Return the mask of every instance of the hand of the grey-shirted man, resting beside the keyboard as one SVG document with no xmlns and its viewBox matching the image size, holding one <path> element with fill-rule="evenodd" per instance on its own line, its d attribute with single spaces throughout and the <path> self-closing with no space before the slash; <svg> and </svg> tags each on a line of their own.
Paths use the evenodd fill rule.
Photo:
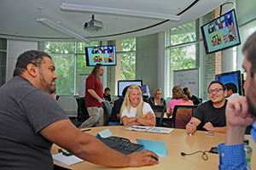
<svg viewBox="0 0 256 170">
<path fill-rule="evenodd" d="M 159 156 L 149 150 L 134 152 L 128 156 L 130 158 L 129 167 L 142 167 L 145 165 L 154 165 L 159 163 L 159 161 L 156 161 L 153 157 L 151 157 L 154 156 L 159 158 Z"/>
</svg>

